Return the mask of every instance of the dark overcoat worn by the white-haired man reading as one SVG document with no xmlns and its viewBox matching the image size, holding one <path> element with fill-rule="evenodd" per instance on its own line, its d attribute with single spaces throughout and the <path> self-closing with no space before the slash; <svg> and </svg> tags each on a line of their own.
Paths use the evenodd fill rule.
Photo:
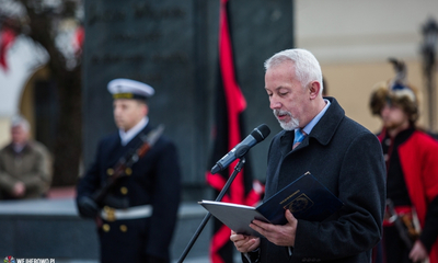
<svg viewBox="0 0 438 263">
<path fill-rule="evenodd" d="M 344 207 L 322 222 L 298 220 L 292 255 L 266 239 L 261 262 L 371 261 L 380 240 L 385 204 L 385 168 L 376 135 L 345 116 L 333 98 L 304 140 L 291 150 L 292 132 L 277 134 L 269 147 L 266 196 L 310 171 Z"/>
</svg>

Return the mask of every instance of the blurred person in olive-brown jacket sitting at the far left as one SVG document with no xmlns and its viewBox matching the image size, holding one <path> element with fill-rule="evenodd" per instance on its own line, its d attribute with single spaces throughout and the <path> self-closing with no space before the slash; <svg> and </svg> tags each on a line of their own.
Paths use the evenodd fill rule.
<svg viewBox="0 0 438 263">
<path fill-rule="evenodd" d="M 0 150 L 1 199 L 44 197 L 51 183 L 51 157 L 31 140 L 31 127 L 22 116 L 11 119 L 11 144 Z"/>
</svg>

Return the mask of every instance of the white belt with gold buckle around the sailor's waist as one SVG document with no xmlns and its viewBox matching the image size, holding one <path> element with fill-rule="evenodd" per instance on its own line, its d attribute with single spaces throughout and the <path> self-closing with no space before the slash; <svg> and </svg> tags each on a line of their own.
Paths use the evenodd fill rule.
<svg viewBox="0 0 438 263">
<path fill-rule="evenodd" d="M 146 218 L 152 215 L 151 205 L 132 206 L 126 209 L 115 209 L 105 206 L 101 211 L 101 217 L 107 221 Z"/>
</svg>

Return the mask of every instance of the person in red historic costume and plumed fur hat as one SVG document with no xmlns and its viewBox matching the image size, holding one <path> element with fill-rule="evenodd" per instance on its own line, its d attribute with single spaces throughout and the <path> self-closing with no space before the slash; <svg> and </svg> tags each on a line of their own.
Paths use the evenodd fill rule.
<svg viewBox="0 0 438 263">
<path fill-rule="evenodd" d="M 383 240 L 374 262 L 438 263 L 438 142 L 420 130 L 416 89 L 407 83 L 406 66 L 391 58 L 396 76 L 379 82 L 370 96 L 387 163 L 388 206 Z M 377 253 L 379 255 L 379 253 Z"/>
</svg>

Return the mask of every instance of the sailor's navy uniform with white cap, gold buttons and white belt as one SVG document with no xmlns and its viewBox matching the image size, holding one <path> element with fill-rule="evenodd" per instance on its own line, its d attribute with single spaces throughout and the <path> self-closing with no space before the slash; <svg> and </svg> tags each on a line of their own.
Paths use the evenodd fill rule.
<svg viewBox="0 0 438 263">
<path fill-rule="evenodd" d="M 145 100 L 154 92 L 145 83 L 126 79 L 113 80 L 108 90 L 115 100 Z M 171 140 L 160 136 L 143 157 L 125 168 L 124 176 L 104 196 L 103 207 L 96 209 L 96 194 L 115 175 L 117 162 L 137 150 L 151 130 L 155 129 L 145 116 L 126 133 L 103 138 L 94 163 L 78 184 L 80 214 L 97 219 L 102 262 L 170 262 L 181 181 Z"/>
</svg>

